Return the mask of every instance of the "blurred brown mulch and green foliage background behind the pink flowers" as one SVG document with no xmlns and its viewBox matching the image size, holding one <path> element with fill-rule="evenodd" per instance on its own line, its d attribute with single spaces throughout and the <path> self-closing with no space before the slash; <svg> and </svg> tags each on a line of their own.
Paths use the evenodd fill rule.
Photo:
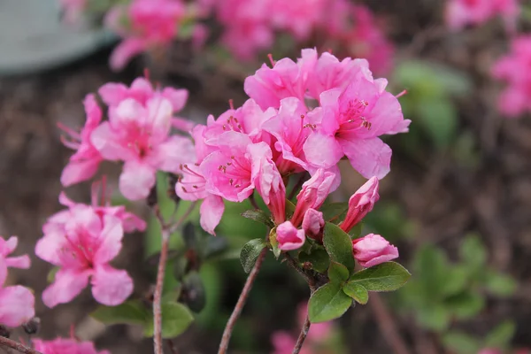
<svg viewBox="0 0 531 354">
<path fill-rule="evenodd" d="M 97 11 L 73 24 L 52 0 L 0 0 L 0 235 L 19 235 L 19 252 L 32 255 L 43 222 L 61 209 L 59 176 L 70 151 L 61 143 L 57 123 L 81 127 L 85 95 L 109 81 L 130 84 L 148 68 L 151 80 L 189 89 L 181 116 L 204 122 L 208 114 L 227 110 L 229 99 L 235 105 L 244 102 L 242 81 L 269 61 L 267 53 L 296 58 L 300 48 L 327 46 L 313 37 L 293 42 L 278 35 L 273 47 L 242 61 L 215 44 L 220 29 L 209 19 L 214 44 L 197 50 L 189 38 L 176 40 L 113 72 L 109 58 L 119 37 L 101 26 L 112 2 L 96 3 L 101 6 Z M 509 49 L 503 21 L 452 32 L 444 22 L 443 0 L 357 4 L 373 13 L 374 26 L 392 48 L 375 76 L 388 78 L 395 94 L 407 90 L 400 102 L 404 116 L 412 119 L 409 134 L 386 141 L 394 151 L 391 173 L 381 181 L 380 202 L 364 227 L 395 244 L 399 262 L 413 275 L 403 289 L 350 309 L 312 337 L 307 352 L 527 352 L 531 120 L 528 115 L 505 119 L 497 111 L 501 84 L 492 79 L 490 68 Z M 525 19 L 520 26 L 526 27 Z M 337 46 L 335 53 L 342 49 L 341 43 Z M 364 181 L 348 163 L 342 167 L 336 200 L 347 200 Z M 119 170 L 105 165 L 102 173 L 116 177 Z M 89 184 L 68 194 L 88 202 Z M 114 202 L 123 201 L 116 196 Z M 129 207 L 150 218 L 146 205 Z M 239 249 L 264 234 L 258 224 L 240 217 L 249 208 L 227 205 L 217 237 L 219 247 L 228 251 L 198 270 L 203 284 L 194 289 L 206 304 L 194 325 L 174 341 L 180 353 L 217 350 L 246 277 Z M 127 235 L 124 242 L 118 265 L 134 277 L 135 294 L 146 296 L 155 274 L 150 256 L 158 252 L 157 227 L 151 225 L 146 235 Z M 177 240 L 174 247 L 180 245 Z M 31 257 L 31 271 L 12 271 L 9 282 L 38 295 L 47 285 L 50 265 Z M 281 353 L 282 340 L 300 329 L 297 313 L 308 296 L 304 280 L 269 255 L 237 324 L 231 352 L 273 353 L 276 348 Z M 87 290 L 52 310 L 37 298 L 42 337 L 67 336 L 74 325 L 79 337 L 115 354 L 152 350 L 142 327 L 105 327 L 92 319 L 89 313 L 97 306 Z"/>
</svg>

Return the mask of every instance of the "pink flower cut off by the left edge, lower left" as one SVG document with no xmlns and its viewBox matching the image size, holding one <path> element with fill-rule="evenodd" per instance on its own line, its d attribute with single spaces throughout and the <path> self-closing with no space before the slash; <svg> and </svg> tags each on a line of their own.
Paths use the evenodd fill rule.
<svg viewBox="0 0 531 354">
<path fill-rule="evenodd" d="M 17 248 L 19 240 L 12 236 L 7 241 L 0 236 L 0 325 L 18 327 L 35 316 L 35 297 L 20 285 L 6 286 L 8 267 L 28 269 L 27 255 L 8 257 Z"/>
</svg>

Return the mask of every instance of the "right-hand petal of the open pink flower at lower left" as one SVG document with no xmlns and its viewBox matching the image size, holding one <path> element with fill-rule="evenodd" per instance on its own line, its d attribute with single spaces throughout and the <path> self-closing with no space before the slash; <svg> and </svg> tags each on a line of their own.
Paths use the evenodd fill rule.
<svg viewBox="0 0 531 354">
<path fill-rule="evenodd" d="M 121 220 L 111 215 L 104 215 L 104 229 L 100 235 L 101 241 L 94 254 L 93 262 L 96 265 L 108 263 L 118 256 L 123 236 Z"/>
</svg>

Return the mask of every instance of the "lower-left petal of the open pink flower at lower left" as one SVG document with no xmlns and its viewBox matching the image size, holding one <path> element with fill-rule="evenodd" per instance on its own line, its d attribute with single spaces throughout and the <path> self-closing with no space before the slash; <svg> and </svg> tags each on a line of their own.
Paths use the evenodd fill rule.
<svg viewBox="0 0 531 354">
<path fill-rule="evenodd" d="M 48 307 L 66 304 L 80 295 L 89 285 L 90 270 L 62 268 L 56 273 L 55 281 L 42 292 L 42 302 Z"/>
</svg>

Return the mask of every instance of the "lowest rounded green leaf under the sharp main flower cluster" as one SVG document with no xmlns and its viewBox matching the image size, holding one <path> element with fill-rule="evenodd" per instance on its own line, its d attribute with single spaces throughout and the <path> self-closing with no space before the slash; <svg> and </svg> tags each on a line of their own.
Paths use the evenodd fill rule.
<svg viewBox="0 0 531 354">
<path fill-rule="evenodd" d="M 345 313 L 352 299 L 343 293 L 339 284 L 327 283 L 317 289 L 308 303 L 308 316 L 312 323 L 337 319 Z"/>
</svg>

